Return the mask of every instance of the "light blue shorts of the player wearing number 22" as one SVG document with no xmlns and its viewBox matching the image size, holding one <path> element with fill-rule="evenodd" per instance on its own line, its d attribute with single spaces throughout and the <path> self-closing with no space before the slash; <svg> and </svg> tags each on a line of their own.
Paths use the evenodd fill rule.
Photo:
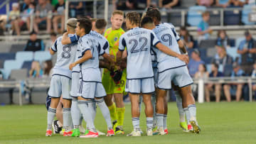
<svg viewBox="0 0 256 144">
<path fill-rule="evenodd" d="M 125 92 L 132 94 L 151 94 L 154 91 L 155 89 L 153 77 L 146 79 L 127 79 Z"/>
</svg>

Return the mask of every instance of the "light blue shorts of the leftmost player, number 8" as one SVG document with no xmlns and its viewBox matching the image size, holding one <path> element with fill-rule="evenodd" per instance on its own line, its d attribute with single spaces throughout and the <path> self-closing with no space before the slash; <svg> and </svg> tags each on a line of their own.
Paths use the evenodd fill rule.
<svg viewBox="0 0 256 144">
<path fill-rule="evenodd" d="M 54 75 L 50 79 L 50 89 L 48 95 L 53 98 L 60 98 L 61 94 L 63 99 L 72 99 L 70 96 L 70 77 L 65 77 L 61 75 Z"/>
</svg>

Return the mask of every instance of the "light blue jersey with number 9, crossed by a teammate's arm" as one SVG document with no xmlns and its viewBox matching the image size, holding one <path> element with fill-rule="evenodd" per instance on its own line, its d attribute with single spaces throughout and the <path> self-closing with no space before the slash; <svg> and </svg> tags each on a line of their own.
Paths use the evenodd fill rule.
<svg viewBox="0 0 256 144">
<path fill-rule="evenodd" d="M 177 43 L 178 40 L 180 40 L 180 37 L 176 33 L 175 28 L 172 24 L 161 23 L 157 25 L 156 28 L 153 29 L 153 31 L 162 44 L 166 45 L 166 47 L 170 48 L 174 52 L 181 54 Z M 157 48 L 154 48 L 153 50 L 156 52 L 158 62 L 157 67 L 159 72 L 186 65 L 185 62 L 179 60 L 177 57 L 166 55 L 164 52 L 161 52 Z"/>
</svg>

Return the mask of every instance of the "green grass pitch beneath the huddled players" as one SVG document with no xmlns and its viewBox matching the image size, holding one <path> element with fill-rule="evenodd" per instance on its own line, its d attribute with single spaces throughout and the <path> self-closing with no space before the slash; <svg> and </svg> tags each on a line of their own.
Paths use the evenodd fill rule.
<svg viewBox="0 0 256 144">
<path fill-rule="evenodd" d="M 132 131 L 131 106 L 126 105 L 125 134 Z M 168 135 L 146 136 L 144 112 L 141 116 L 142 137 L 125 135 L 99 138 L 46 137 L 46 108 L 43 105 L 0 106 L 0 143 L 256 143 L 255 102 L 197 104 L 199 135 L 183 133 L 178 127 L 176 103 L 169 103 Z M 85 124 L 85 123 L 84 123 Z M 84 125 L 85 126 L 85 125 Z M 106 123 L 97 109 L 95 126 L 106 133 Z"/>
</svg>

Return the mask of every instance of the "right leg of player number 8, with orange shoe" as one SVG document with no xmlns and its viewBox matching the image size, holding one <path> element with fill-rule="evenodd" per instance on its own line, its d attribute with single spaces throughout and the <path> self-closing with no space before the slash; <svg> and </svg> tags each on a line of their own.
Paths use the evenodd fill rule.
<svg viewBox="0 0 256 144">
<path fill-rule="evenodd" d="M 68 77 L 61 77 L 62 94 L 63 94 L 63 128 L 65 132 L 63 136 L 71 136 L 71 126 L 73 125 L 71 118 L 71 101 L 70 96 L 71 79 Z"/>
</svg>

